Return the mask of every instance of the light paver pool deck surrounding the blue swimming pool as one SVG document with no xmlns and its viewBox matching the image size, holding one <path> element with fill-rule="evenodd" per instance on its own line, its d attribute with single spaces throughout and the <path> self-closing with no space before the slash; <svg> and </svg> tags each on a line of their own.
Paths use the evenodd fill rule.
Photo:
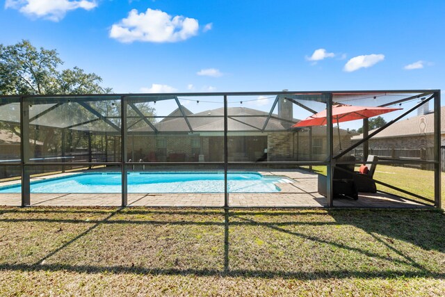
<svg viewBox="0 0 445 297">
<path fill-rule="evenodd" d="M 277 193 L 229 193 L 230 207 L 326 207 L 326 198 L 318 194 L 318 175 L 306 170 L 261 171 L 262 175 L 288 177 L 291 183 L 277 184 Z M 73 173 L 61 173 L 35 179 L 60 177 Z M 14 184 L 17 182 L 8 182 Z M 3 185 L 6 185 L 3 183 Z M 0 205 L 20 206 L 19 193 L 1 193 Z M 31 206 L 51 207 L 120 207 L 119 193 L 39 193 L 31 194 Z M 128 194 L 129 207 L 223 207 L 222 193 L 152 193 Z M 375 208 L 423 208 L 423 204 L 398 198 L 385 193 L 359 193 L 358 200 L 334 199 L 334 207 Z"/>
</svg>

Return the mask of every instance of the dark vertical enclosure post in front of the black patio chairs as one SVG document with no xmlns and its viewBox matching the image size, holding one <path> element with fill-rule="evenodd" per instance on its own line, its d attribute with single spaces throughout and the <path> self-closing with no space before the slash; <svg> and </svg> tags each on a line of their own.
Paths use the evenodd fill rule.
<svg viewBox="0 0 445 297">
<path fill-rule="evenodd" d="M 332 93 L 329 94 L 329 98 L 327 99 L 326 102 L 326 116 L 327 116 L 327 158 L 329 160 L 329 163 L 327 163 L 327 168 L 326 168 L 326 179 L 327 179 L 327 183 L 326 183 L 326 202 L 327 202 L 327 207 L 333 207 L 334 206 L 334 202 L 333 202 L 333 188 L 332 188 L 332 177 L 333 177 L 333 172 L 334 172 L 334 166 L 335 166 L 335 160 L 333 158 L 334 156 L 334 143 L 333 143 L 333 137 L 334 137 L 334 133 L 333 133 L 333 129 L 332 129 Z M 312 160 L 311 160 L 312 161 Z"/>
</svg>

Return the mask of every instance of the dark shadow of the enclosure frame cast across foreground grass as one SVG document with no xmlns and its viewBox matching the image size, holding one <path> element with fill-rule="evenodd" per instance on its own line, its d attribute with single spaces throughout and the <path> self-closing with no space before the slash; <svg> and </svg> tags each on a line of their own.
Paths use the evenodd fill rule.
<svg viewBox="0 0 445 297">
<path fill-rule="evenodd" d="M 51 213 L 59 214 L 63 213 L 63 209 L 39 209 L 40 214 Z M 0 214 L 13 212 L 26 213 L 22 210 L 0 211 Z M 29 211 L 35 212 L 35 209 Z M 445 216 L 441 211 L 384 211 L 384 210 L 366 210 L 366 211 L 353 211 L 353 210 L 329 210 L 329 211 L 262 211 L 262 210 L 229 210 L 225 209 L 218 211 L 179 211 L 172 209 L 168 211 L 165 209 L 81 209 L 76 211 L 74 209 L 67 209 L 67 213 L 74 214 L 104 214 L 106 218 L 99 220 L 90 220 L 89 224 L 93 223 L 87 230 L 76 234 L 70 241 L 63 243 L 58 248 L 48 252 L 47 255 L 40 258 L 34 264 L 0 264 L 0 270 L 12 270 L 12 271 L 72 271 L 78 273 L 143 273 L 152 275 L 198 275 L 198 276 L 230 276 L 230 277 L 258 277 L 258 278 L 298 278 L 301 280 L 315 280 L 326 278 L 414 278 L 425 277 L 442 279 L 445 278 L 445 273 L 442 271 L 430 271 L 417 263 L 409 255 L 405 255 L 405 252 L 399 250 L 396 245 L 392 244 L 393 239 L 399 239 L 412 243 L 426 250 L 437 250 L 439 252 L 445 252 L 445 239 L 442 236 L 442 227 L 445 223 Z M 220 221 L 208 221 L 204 220 L 117 220 L 116 215 L 144 215 L 144 214 L 162 214 L 162 215 L 179 215 L 179 216 L 220 216 Z M 285 221 L 277 222 L 273 221 L 273 218 L 277 216 L 302 216 L 302 215 L 323 215 L 330 216 L 334 221 Z M 268 221 L 257 221 L 255 216 L 263 216 L 264 218 L 271 218 Z M 232 220 L 236 219 L 236 220 Z M 178 219 L 178 218 L 176 218 Z M 86 223 L 85 220 L 77 220 L 70 218 L 1 218 L 1 223 L 19 224 L 24 222 L 36 222 L 36 223 L 73 223 L 81 224 Z M 125 266 L 125 265 L 102 265 L 102 266 L 88 266 L 88 265 L 72 265 L 72 264 L 44 264 L 45 260 L 56 255 L 58 252 L 62 252 L 65 248 L 72 245 L 72 243 L 78 241 L 84 236 L 88 235 L 92 230 L 95 230 L 100 225 L 107 224 L 120 224 L 120 225 L 183 225 L 188 227 L 189 225 L 220 225 L 224 226 L 224 253 L 223 253 L 223 269 L 193 269 L 193 268 L 147 268 L 145 266 Z M 286 226 L 332 226 L 332 225 L 353 225 L 358 227 L 364 232 L 370 234 L 375 241 L 382 243 L 389 250 L 395 252 L 399 259 L 388 255 L 379 255 L 369 250 L 349 246 L 345 243 L 338 243 L 330 239 L 324 239 L 321 236 L 307 235 L 302 232 L 296 232 L 295 230 L 286 230 Z M 251 227 L 266 227 L 276 232 L 282 232 L 291 236 L 296 236 L 300 239 L 307 241 L 314 241 L 317 243 L 323 243 L 333 248 L 341 250 L 348 250 L 357 252 L 366 257 L 373 259 L 381 259 L 384 261 L 393 262 L 405 266 L 401 269 L 385 269 L 381 268 L 379 271 L 359 271 L 355 269 L 328 269 L 326 271 L 284 271 L 280 269 L 232 269 L 230 268 L 230 227 L 235 226 L 251 226 Z M 389 240 L 387 240 L 389 239 Z M 286 257 L 285 255 L 283 257 Z M 407 267 L 406 267 L 407 266 Z"/>
</svg>

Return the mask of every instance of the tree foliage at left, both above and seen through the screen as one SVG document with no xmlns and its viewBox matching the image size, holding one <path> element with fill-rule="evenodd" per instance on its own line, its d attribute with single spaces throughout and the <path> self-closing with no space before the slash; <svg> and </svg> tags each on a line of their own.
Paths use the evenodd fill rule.
<svg viewBox="0 0 445 297">
<path fill-rule="evenodd" d="M 102 78 L 95 73 L 87 73 L 79 67 L 61 70 L 63 61 L 59 58 L 55 49 L 36 49 L 29 40 L 22 40 L 15 45 L 0 44 L 0 95 L 81 95 L 81 94 L 104 94 L 112 93 L 111 88 L 104 88 L 100 85 Z M 88 103 L 92 109 L 100 113 L 106 121 L 98 122 L 107 128 L 110 122 L 120 117 L 120 102 L 111 101 L 111 99 L 100 100 Z M 138 109 L 146 116 L 154 115 L 154 109 L 147 104 L 138 104 Z M 72 122 L 85 122 L 91 117 L 91 111 L 79 107 L 76 102 L 70 102 L 57 106 L 59 115 L 66 115 Z M 49 116 L 43 115 L 44 117 Z M 127 115 L 137 115 L 132 109 L 129 109 Z M 0 129 L 6 129 L 20 136 L 19 126 L 15 123 L 2 122 L 0 119 Z M 84 131 L 70 129 L 69 133 L 63 136 L 62 123 L 47 122 L 47 125 L 35 125 L 31 130 L 31 139 L 42 142 L 39 147 L 42 156 L 57 155 L 62 151 L 62 138 L 67 140 L 68 147 L 65 152 L 76 150 L 78 147 L 88 147 L 88 137 Z M 153 119 L 150 119 L 154 122 Z M 108 122 L 108 124 L 106 123 Z M 32 123 L 31 123 L 32 124 Z M 60 125 L 62 124 L 62 125 Z M 134 128 L 143 127 L 147 124 L 142 120 L 136 121 Z M 100 127 L 98 128 L 101 129 Z M 105 131 L 105 130 L 104 130 Z M 108 142 L 108 138 L 102 135 L 92 136 L 93 147 L 102 147 L 103 142 Z"/>
</svg>

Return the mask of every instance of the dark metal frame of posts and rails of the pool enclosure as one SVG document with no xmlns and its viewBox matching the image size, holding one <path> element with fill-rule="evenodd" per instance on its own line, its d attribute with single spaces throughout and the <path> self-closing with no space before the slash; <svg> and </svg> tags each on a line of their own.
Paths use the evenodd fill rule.
<svg viewBox="0 0 445 297">
<path fill-rule="evenodd" d="M 164 98 L 164 99 L 175 99 L 179 106 L 179 110 L 181 111 L 181 115 L 184 117 L 184 120 L 186 120 L 186 123 L 188 127 L 190 128 L 190 131 L 193 132 L 193 129 L 191 127 L 190 122 L 188 122 L 187 116 L 184 113 L 184 111 L 181 109 L 181 104 L 179 104 L 178 96 L 193 96 L 193 97 L 205 97 L 205 96 L 218 96 L 223 97 L 223 108 L 224 108 L 224 161 L 223 162 L 200 162 L 200 164 L 213 164 L 213 165 L 219 165 L 224 166 L 224 174 L 225 174 L 225 203 L 224 207 L 229 208 L 229 201 L 228 201 L 228 192 L 227 192 L 227 171 L 229 168 L 229 165 L 232 162 L 229 162 L 228 159 L 228 152 L 227 152 L 227 119 L 230 118 L 229 115 L 227 115 L 227 97 L 228 96 L 243 96 L 243 95 L 277 95 L 277 99 L 275 99 L 275 102 L 273 102 L 272 109 L 270 109 L 270 113 L 267 117 L 266 123 L 264 124 L 264 127 L 262 131 L 264 131 L 268 120 L 271 118 L 273 110 L 277 104 L 278 96 L 282 95 L 289 95 L 290 100 L 294 101 L 290 95 L 293 94 L 299 94 L 299 95 L 310 95 L 310 94 L 321 94 L 324 95 L 327 98 L 326 108 L 327 108 L 327 160 L 326 161 L 271 161 L 270 163 L 273 164 L 282 164 L 282 165 L 288 165 L 288 166 L 314 166 L 314 165 L 323 165 L 327 168 L 327 207 L 333 207 L 333 200 L 332 200 L 332 173 L 333 168 L 335 164 L 337 163 L 337 159 L 339 156 L 346 154 L 346 152 L 341 152 L 341 154 L 338 154 L 337 156 L 334 156 L 333 152 L 333 127 L 332 127 L 332 105 L 333 105 L 333 95 L 335 94 L 355 94 L 355 93 L 420 93 L 421 95 L 429 95 L 430 97 L 428 99 L 434 99 L 434 160 L 433 161 L 423 161 L 423 163 L 429 163 L 434 165 L 434 187 L 435 187 L 435 207 L 442 207 L 441 205 L 441 160 L 440 160 L 440 145 L 441 145 L 441 106 L 440 106 L 440 90 L 367 90 L 367 91 L 320 91 L 320 92 L 295 92 L 295 91 L 286 91 L 286 92 L 238 92 L 238 93 L 172 93 L 172 94 L 108 94 L 108 95 L 20 95 L 20 96 L 1 96 L 1 98 L 19 98 L 20 101 L 20 130 L 22 131 L 22 138 L 20 143 L 20 152 L 21 152 L 21 161 L 19 162 L 19 166 L 22 171 L 22 207 L 28 207 L 31 204 L 30 200 L 30 178 L 31 175 L 29 173 L 29 170 L 26 170 L 27 167 L 35 166 L 35 163 L 30 162 L 29 156 L 29 146 L 24 145 L 24 143 L 29 143 L 29 124 L 30 124 L 30 115 L 29 115 L 29 109 L 30 106 L 28 102 L 26 102 L 26 99 L 28 98 L 38 98 L 38 97 L 53 97 L 54 102 L 57 103 L 59 99 L 62 99 L 64 97 L 76 97 L 79 99 L 82 98 L 100 98 L 100 99 L 106 99 L 109 97 L 119 97 L 120 99 L 120 137 L 121 137 L 121 161 L 120 162 L 106 162 L 106 163 L 98 163 L 98 162 L 91 162 L 91 159 L 89 159 L 88 162 L 84 163 L 76 163 L 79 165 L 85 165 L 85 166 L 93 166 L 93 165 L 115 165 L 120 166 L 121 172 L 122 172 L 122 207 L 126 207 L 128 204 L 127 199 L 127 168 L 128 166 L 133 165 L 133 163 L 130 163 L 127 161 L 127 105 L 129 108 L 133 109 L 140 115 L 140 111 L 137 110 L 134 103 L 140 102 L 138 97 L 156 97 L 156 98 Z M 419 97 L 419 96 L 417 96 Z M 286 97 L 285 97 L 286 98 Z M 405 98 L 398 100 L 397 102 L 403 102 L 403 100 L 407 100 L 410 98 Z M 88 105 L 85 102 L 79 101 L 79 103 L 83 104 L 83 106 Z M 299 104 L 298 102 L 293 102 L 293 104 Z M 303 107 L 305 108 L 305 107 Z M 310 110 L 310 109 L 309 109 Z M 96 112 L 92 110 L 92 112 Z M 102 115 L 98 115 L 101 117 Z M 103 116 L 102 116 L 103 117 Z M 107 120 L 107 119 L 105 119 Z M 110 122 L 108 120 L 108 122 Z M 111 122 L 113 124 L 113 122 Z M 110 124 L 110 125 L 111 125 Z M 385 127 L 391 125 L 392 123 L 388 123 L 385 125 Z M 114 124 L 113 124 L 114 125 Z M 150 125 L 150 124 L 149 124 Z M 151 125 L 152 126 L 152 125 Z M 371 138 L 374 134 L 369 134 L 368 136 L 368 129 L 367 128 L 367 120 L 364 121 L 364 139 L 361 143 L 365 143 L 367 139 Z M 382 127 L 384 129 L 385 127 Z M 69 127 L 68 127 L 69 128 Z M 152 127 L 153 128 L 153 127 Z M 156 131 L 155 131 L 156 132 Z M 367 137 L 366 137 L 367 136 Z M 298 137 L 298 136 L 297 136 Z M 360 143 L 360 142 L 359 142 Z M 357 145 L 356 145 L 357 146 Z M 367 147 L 367 146 L 365 146 Z M 312 153 L 312 152 L 311 152 Z M 367 154 L 367 152 L 364 152 Z M 269 162 L 268 162 L 269 163 Z M 422 163 L 422 162 L 417 162 Z M 149 165 L 150 163 L 142 162 L 140 163 L 142 165 Z M 156 164 L 161 164 L 162 162 L 156 162 Z M 188 162 L 168 162 L 168 165 L 194 165 L 196 163 L 188 163 Z M 2 163 L 2 166 L 8 166 L 8 165 L 14 165 L 17 166 L 16 161 L 6 162 Z M 38 163 L 38 166 L 47 166 L 47 165 L 62 165 L 62 163 Z"/>
</svg>

